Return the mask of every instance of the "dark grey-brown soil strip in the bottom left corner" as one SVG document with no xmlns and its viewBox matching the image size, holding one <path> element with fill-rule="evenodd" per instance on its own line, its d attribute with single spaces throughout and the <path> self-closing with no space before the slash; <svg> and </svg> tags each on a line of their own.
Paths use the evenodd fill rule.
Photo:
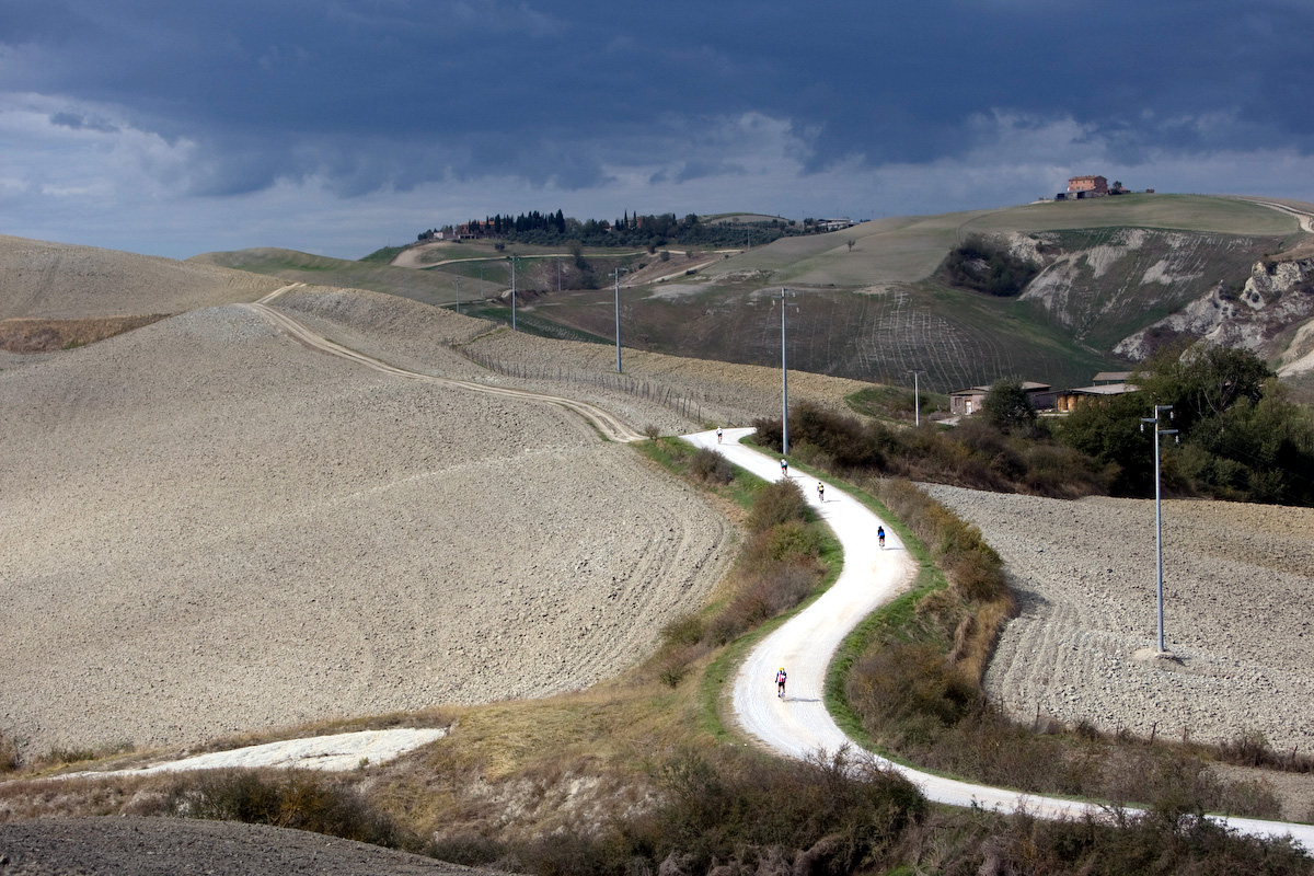
<svg viewBox="0 0 1314 876">
<path fill-rule="evenodd" d="M 487 873 L 301 830 L 175 818 L 0 823 L 0 876 L 422 876 Z"/>
</svg>

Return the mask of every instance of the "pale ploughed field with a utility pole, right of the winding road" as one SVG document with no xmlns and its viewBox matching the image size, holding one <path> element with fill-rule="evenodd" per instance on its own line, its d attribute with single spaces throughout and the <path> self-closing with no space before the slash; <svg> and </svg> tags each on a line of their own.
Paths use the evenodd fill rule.
<svg viewBox="0 0 1314 876">
<path fill-rule="evenodd" d="M 1154 503 L 928 491 L 975 523 L 1021 595 L 987 672 L 1014 717 L 1314 749 L 1314 510 L 1164 502 L 1164 638 L 1155 646 Z"/>
</svg>

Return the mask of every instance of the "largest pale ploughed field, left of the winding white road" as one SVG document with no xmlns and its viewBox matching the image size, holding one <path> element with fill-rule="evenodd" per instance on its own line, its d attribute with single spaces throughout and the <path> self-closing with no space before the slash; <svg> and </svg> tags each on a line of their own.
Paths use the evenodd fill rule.
<svg viewBox="0 0 1314 876">
<path fill-rule="evenodd" d="M 339 343 L 466 376 L 414 313 L 321 303 Z M 38 753 L 578 688 L 696 607 L 735 537 L 558 407 L 242 306 L 16 357 L 0 406 L 0 728 Z"/>
</svg>

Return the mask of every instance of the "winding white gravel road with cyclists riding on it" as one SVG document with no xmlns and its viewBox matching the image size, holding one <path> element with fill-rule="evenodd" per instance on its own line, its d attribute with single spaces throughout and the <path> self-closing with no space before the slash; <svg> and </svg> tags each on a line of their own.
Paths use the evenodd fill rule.
<svg viewBox="0 0 1314 876">
<path fill-rule="evenodd" d="M 696 447 L 716 449 L 735 465 L 761 478 L 769 481 L 779 478 L 779 460 L 740 444 L 740 439 L 752 431 L 725 429 L 719 447 L 715 432 L 687 435 L 685 440 Z M 735 679 L 735 714 L 753 737 L 792 758 L 804 758 L 819 750 L 833 753 L 845 745 L 861 750 L 861 746 L 844 734 L 825 709 L 823 701 L 825 671 L 844 637 L 872 609 L 892 599 L 912 582 L 916 563 L 892 532 L 887 533 L 884 550 L 876 546 L 875 532 L 882 520 L 857 499 L 832 486 L 827 489 L 825 502 L 821 503 L 813 479 L 804 479 L 796 474 L 790 477 L 800 481 L 808 502 L 844 545 L 844 571 L 820 599 L 781 625 L 749 653 Z M 774 676 L 781 666 L 790 676 L 788 695 L 784 700 L 775 696 Z M 1024 808 L 1045 818 L 1104 814 L 1104 809 L 1096 804 L 989 788 L 934 776 L 883 758 L 876 760 L 907 777 L 934 802 L 955 806 L 978 805 L 1001 812 Z M 1303 844 L 1306 851 L 1314 850 L 1311 825 L 1257 818 L 1214 820 L 1244 834 L 1290 835 Z"/>
</svg>

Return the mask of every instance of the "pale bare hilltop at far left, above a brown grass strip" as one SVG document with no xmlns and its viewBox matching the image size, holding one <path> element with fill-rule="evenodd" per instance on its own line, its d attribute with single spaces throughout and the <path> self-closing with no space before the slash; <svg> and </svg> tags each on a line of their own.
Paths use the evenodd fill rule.
<svg viewBox="0 0 1314 876">
<path fill-rule="evenodd" d="M 0 235 L 0 319 L 181 313 L 255 301 L 280 285 L 227 268 Z"/>
</svg>

